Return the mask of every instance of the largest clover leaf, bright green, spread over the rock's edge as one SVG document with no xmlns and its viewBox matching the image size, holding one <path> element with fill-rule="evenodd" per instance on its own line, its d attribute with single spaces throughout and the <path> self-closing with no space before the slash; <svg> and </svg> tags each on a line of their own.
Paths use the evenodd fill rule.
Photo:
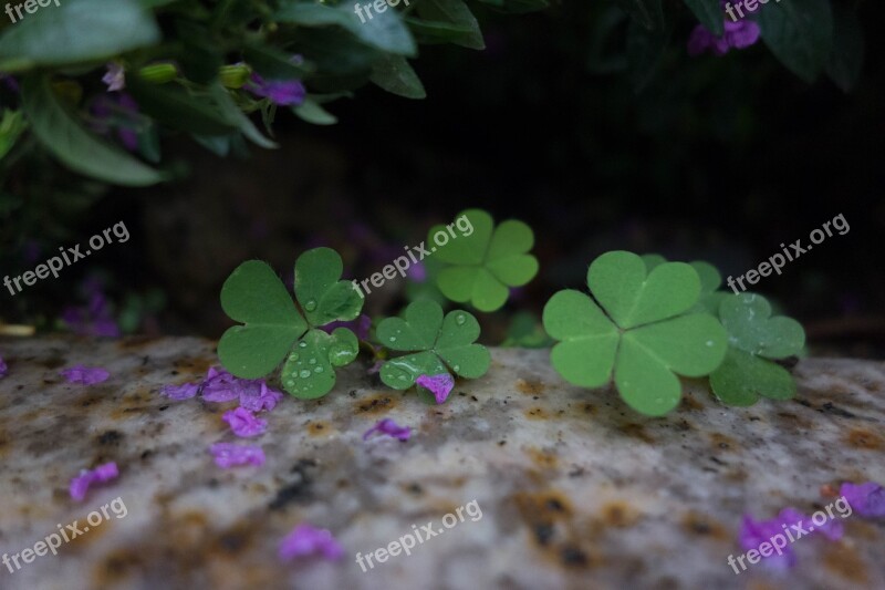
<svg viewBox="0 0 885 590">
<path fill-rule="evenodd" d="M 648 271 L 632 252 L 606 252 L 591 263 L 587 286 L 595 301 L 566 289 L 544 306 L 544 328 L 560 341 L 550 359 L 570 383 L 598 387 L 614 373 L 631 407 L 659 416 L 681 397 L 676 374 L 702 376 L 721 363 L 726 331 L 712 315 L 690 312 L 701 282 L 689 265 Z"/>
</svg>

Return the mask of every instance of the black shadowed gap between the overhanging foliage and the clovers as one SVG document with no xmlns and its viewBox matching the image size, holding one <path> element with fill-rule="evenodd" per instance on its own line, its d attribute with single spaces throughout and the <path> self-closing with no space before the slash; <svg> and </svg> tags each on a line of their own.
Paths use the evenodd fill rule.
<svg viewBox="0 0 885 590">
<path fill-rule="evenodd" d="M 623 40 L 606 42 L 603 65 L 593 51 L 596 9 L 486 14 L 486 51 L 423 49 L 413 64 L 425 101 L 366 87 L 327 105 L 340 120 L 330 127 L 281 111 L 282 148 L 256 148 L 249 159 L 165 137 L 165 157 L 187 166 L 187 179 L 113 189 L 73 213 L 46 205 L 28 220 L 46 252 L 38 262 L 119 220 L 132 240 L 59 280 L 7 293 L 3 315 L 52 328 L 61 309 L 83 302 L 77 284 L 97 273 L 117 311 L 132 293 L 160 293 L 137 331 L 217 338 L 230 324 L 218 291 L 244 259 L 263 258 L 287 276 L 303 249 L 325 244 L 342 252 L 347 278 L 367 277 L 425 239 L 433 222 L 482 207 L 532 226 L 541 261 L 535 281 L 482 319 L 494 343 L 511 312 L 540 314 L 555 290 L 580 287 L 606 250 L 705 259 L 737 276 L 781 242 L 809 244 L 813 229 L 844 214 L 848 234 L 757 289 L 803 322 L 815 352 L 881 356 L 885 93 L 873 27 L 882 12 L 861 6 L 866 59 L 851 94 L 824 76 L 803 83 L 761 41 L 690 58 L 690 28 L 673 31 L 652 82 L 636 92 Z M 72 238 L 52 238 L 48 224 L 72 228 Z M 20 275 L 38 262 L 4 270 Z M 367 310 L 395 313 L 402 288 L 385 288 Z"/>
</svg>

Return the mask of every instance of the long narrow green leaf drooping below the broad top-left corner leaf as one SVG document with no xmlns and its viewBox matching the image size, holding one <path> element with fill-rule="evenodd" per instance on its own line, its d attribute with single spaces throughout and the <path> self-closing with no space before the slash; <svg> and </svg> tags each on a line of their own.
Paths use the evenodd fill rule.
<svg viewBox="0 0 885 590">
<path fill-rule="evenodd" d="M 155 169 L 88 133 L 52 91 L 49 76 L 27 76 L 21 92 L 34 135 L 69 168 L 118 185 L 147 186 L 163 180 Z"/>
</svg>

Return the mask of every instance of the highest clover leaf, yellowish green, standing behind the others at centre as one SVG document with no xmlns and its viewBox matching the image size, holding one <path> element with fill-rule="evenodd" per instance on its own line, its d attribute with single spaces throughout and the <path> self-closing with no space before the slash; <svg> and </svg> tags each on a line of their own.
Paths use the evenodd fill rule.
<svg viewBox="0 0 885 590">
<path fill-rule="evenodd" d="M 473 228 L 469 235 L 457 235 L 434 247 L 439 260 L 450 265 L 437 277 L 437 286 L 447 298 L 458 303 L 470 302 L 480 311 L 500 309 L 510 294 L 510 287 L 522 287 L 538 273 L 538 259 L 528 253 L 534 245 L 531 228 L 510 219 L 497 228 L 492 217 L 481 209 L 468 209 L 466 217 Z M 449 227 L 454 227 L 452 224 Z M 430 228 L 428 241 L 448 236 L 446 226 Z"/>
</svg>

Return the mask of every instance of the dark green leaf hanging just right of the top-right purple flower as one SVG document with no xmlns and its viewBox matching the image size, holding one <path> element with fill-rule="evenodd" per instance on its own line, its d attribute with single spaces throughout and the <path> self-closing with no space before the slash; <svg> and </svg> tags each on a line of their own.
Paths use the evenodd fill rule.
<svg viewBox="0 0 885 590">
<path fill-rule="evenodd" d="M 826 63 L 833 44 L 829 0 L 787 0 L 759 13 L 762 40 L 788 70 L 808 83 Z"/>
</svg>

